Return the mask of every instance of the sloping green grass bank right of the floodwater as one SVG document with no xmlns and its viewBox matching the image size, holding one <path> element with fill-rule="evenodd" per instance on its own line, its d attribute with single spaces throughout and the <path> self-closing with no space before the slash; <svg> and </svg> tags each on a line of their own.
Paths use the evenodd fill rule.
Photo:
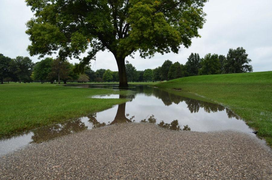
<svg viewBox="0 0 272 180">
<path fill-rule="evenodd" d="M 224 104 L 272 145 L 272 71 L 191 76 L 155 86 L 197 93 Z"/>
</svg>

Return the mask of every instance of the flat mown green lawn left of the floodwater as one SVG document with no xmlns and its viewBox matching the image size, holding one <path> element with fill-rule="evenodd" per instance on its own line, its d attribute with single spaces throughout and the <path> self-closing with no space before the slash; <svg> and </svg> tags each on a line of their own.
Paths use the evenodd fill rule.
<svg viewBox="0 0 272 180">
<path fill-rule="evenodd" d="M 111 89 L 64 87 L 55 84 L 0 85 L 0 137 L 89 113 L 102 111 L 126 99 L 93 99 L 92 95 L 118 93 Z"/>
</svg>

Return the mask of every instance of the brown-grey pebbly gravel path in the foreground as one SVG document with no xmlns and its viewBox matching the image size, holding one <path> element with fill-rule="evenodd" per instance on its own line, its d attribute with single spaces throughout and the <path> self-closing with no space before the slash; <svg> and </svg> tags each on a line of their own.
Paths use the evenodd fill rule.
<svg viewBox="0 0 272 180">
<path fill-rule="evenodd" d="M 124 123 L 33 144 L 0 158 L 0 179 L 272 179 L 272 153 L 237 132 Z"/>
</svg>

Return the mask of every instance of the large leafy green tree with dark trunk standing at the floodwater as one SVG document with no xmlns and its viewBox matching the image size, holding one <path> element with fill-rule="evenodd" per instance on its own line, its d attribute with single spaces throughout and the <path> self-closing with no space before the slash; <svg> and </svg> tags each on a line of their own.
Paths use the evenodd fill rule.
<svg viewBox="0 0 272 180">
<path fill-rule="evenodd" d="M 33 55 L 58 52 L 89 65 L 95 54 L 108 50 L 118 66 L 119 86 L 128 86 L 125 57 L 140 53 L 178 53 L 200 37 L 207 0 L 26 0 L 34 12 L 27 22 Z M 88 55 L 79 58 L 82 53 Z M 84 67 L 84 66 L 81 66 Z"/>
</svg>

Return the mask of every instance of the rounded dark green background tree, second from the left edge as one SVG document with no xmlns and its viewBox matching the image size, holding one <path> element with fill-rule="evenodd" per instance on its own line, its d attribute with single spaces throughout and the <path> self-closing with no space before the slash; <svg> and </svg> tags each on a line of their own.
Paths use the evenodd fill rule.
<svg viewBox="0 0 272 180">
<path fill-rule="evenodd" d="M 29 57 L 17 56 L 10 62 L 10 71 L 21 82 L 31 82 L 34 63 Z"/>
</svg>

